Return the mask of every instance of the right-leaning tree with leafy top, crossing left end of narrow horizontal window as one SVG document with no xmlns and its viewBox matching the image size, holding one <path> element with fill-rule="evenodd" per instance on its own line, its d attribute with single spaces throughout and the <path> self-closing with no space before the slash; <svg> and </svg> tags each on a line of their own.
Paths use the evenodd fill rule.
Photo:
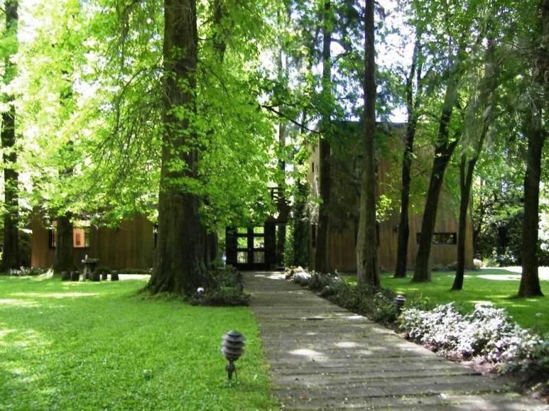
<svg viewBox="0 0 549 411">
<path fill-rule="evenodd" d="M 487 3 L 467 0 L 460 5 L 439 1 L 414 2 L 414 10 L 424 19 L 423 38 L 433 61 L 436 83 L 430 82 L 430 101 L 439 115 L 434 135 L 434 157 L 425 208 L 421 221 L 414 282 L 430 281 L 430 254 L 443 179 L 452 154 L 461 138 L 462 116 L 456 105 L 463 86 L 463 75 L 474 64 L 471 56 L 482 47 Z M 431 68 L 430 68 L 431 69 Z M 438 77 L 438 78 L 437 78 Z M 441 101 L 439 96 L 443 96 Z M 425 97 L 427 98 L 427 97 Z"/>
</svg>

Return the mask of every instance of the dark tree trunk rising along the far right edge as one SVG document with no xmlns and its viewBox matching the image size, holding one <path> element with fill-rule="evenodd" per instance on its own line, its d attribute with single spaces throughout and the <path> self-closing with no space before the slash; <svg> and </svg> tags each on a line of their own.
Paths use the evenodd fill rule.
<svg viewBox="0 0 549 411">
<path fill-rule="evenodd" d="M 519 297 L 543 295 L 537 272 L 537 240 L 539 229 L 539 180 L 541 154 L 547 137 L 544 115 L 549 97 L 549 0 L 538 7 L 537 30 L 533 42 L 533 97 L 527 108 L 524 134 L 528 140 L 526 176 L 524 177 L 524 225 L 522 228 L 522 276 Z M 545 119 L 546 122 L 546 119 Z"/>
</svg>

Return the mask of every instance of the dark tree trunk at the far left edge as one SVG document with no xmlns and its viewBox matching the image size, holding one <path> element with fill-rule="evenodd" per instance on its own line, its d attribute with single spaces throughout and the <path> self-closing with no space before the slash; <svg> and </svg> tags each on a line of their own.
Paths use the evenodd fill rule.
<svg viewBox="0 0 549 411">
<path fill-rule="evenodd" d="M 5 27 L 8 36 L 17 36 L 17 1 L 7 0 L 5 8 Z M 16 42 L 16 40 L 15 40 Z M 8 85 L 15 75 L 16 67 L 11 62 L 16 50 L 8 51 L 5 55 L 4 84 Z M 19 268 L 19 173 L 15 169 L 17 153 L 15 151 L 15 106 L 13 96 L 8 96 L 5 103 L 8 110 L 2 114 L 1 142 L 3 149 L 4 166 L 4 206 L 3 215 L 3 254 L 2 271 Z"/>
</svg>

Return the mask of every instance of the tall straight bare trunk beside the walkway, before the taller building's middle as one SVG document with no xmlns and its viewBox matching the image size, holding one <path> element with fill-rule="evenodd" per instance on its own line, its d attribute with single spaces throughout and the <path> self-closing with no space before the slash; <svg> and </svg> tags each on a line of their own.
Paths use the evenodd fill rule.
<svg viewBox="0 0 549 411">
<path fill-rule="evenodd" d="M 375 232 L 375 49 L 374 0 L 366 0 L 364 16 L 364 161 L 360 188 L 357 270 L 359 284 L 379 286 Z"/>
</svg>

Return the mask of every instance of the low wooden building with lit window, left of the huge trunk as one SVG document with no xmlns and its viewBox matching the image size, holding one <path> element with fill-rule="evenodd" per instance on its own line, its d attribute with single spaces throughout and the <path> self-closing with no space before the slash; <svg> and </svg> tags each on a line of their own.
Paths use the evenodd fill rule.
<svg viewBox="0 0 549 411">
<path fill-rule="evenodd" d="M 47 269 L 54 264 L 55 221 L 47 223 L 35 214 L 32 219 L 31 265 Z M 97 227 L 89 221 L 75 221 L 73 229 L 74 263 L 82 267 L 82 259 L 98 258 L 100 266 L 109 269 L 150 269 L 153 264 L 156 231 L 154 224 L 142 214 L 122 221 L 111 229 Z"/>
</svg>

